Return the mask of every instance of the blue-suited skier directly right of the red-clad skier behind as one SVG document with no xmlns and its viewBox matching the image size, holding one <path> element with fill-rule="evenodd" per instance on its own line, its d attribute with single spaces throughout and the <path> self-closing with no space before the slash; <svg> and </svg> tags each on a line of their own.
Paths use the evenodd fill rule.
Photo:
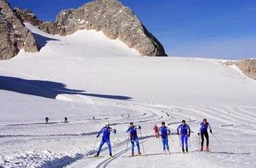
<svg viewBox="0 0 256 168">
<path fill-rule="evenodd" d="M 171 131 L 167 126 L 165 126 L 165 122 L 162 122 L 162 126 L 159 128 L 159 134 L 161 135 L 162 138 L 164 154 L 166 154 L 165 149 L 168 151 L 169 154 L 171 154 L 168 144 L 168 135 L 171 134 Z"/>
</svg>

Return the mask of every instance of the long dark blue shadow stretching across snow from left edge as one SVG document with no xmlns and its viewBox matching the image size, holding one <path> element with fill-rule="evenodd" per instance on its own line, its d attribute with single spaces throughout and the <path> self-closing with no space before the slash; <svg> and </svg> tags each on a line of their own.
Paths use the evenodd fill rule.
<svg viewBox="0 0 256 168">
<path fill-rule="evenodd" d="M 131 97 L 107 94 L 88 94 L 85 90 L 66 88 L 65 84 L 54 81 L 27 80 L 0 75 L 0 90 L 14 91 L 38 97 L 55 99 L 59 94 L 79 94 L 88 97 L 100 97 L 114 100 L 130 100 Z"/>
</svg>

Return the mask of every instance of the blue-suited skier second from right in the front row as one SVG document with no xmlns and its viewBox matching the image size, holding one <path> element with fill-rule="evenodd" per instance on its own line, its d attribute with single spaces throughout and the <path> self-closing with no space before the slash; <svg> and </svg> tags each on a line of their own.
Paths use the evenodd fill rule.
<svg viewBox="0 0 256 168">
<path fill-rule="evenodd" d="M 181 147 L 184 153 L 184 144 L 186 144 L 186 152 L 188 152 L 187 137 L 190 137 L 190 126 L 186 124 L 185 120 L 182 120 L 181 123 L 177 128 L 177 133 L 181 135 Z"/>
</svg>

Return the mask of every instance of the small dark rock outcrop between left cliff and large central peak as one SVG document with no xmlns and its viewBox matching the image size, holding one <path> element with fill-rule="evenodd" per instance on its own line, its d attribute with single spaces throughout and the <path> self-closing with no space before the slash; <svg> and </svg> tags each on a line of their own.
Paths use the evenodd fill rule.
<svg viewBox="0 0 256 168">
<path fill-rule="evenodd" d="M 33 24 L 34 26 L 39 26 L 43 24 L 43 21 L 40 21 L 37 16 L 32 13 L 29 9 L 24 9 L 23 11 L 20 8 L 14 8 L 15 14 L 21 18 L 22 22 L 27 22 Z"/>
</svg>

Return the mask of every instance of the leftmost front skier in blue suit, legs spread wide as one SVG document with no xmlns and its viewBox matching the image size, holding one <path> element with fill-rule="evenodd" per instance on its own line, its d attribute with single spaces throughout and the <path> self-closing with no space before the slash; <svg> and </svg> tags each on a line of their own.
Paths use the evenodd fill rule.
<svg viewBox="0 0 256 168">
<path fill-rule="evenodd" d="M 114 132 L 114 134 L 116 134 L 117 130 L 111 128 L 110 127 L 110 123 L 107 122 L 106 125 L 103 128 L 101 128 L 101 131 L 98 132 L 97 138 L 101 135 L 101 133 L 103 135 L 102 135 L 100 147 L 98 148 L 98 152 L 97 152 L 97 154 L 94 157 L 99 157 L 99 155 L 101 153 L 101 148 L 105 144 L 105 142 L 107 143 L 107 147 L 108 147 L 108 151 L 109 151 L 110 157 L 113 157 L 112 156 L 112 152 L 111 152 L 111 144 L 110 144 L 110 132 Z"/>
</svg>

